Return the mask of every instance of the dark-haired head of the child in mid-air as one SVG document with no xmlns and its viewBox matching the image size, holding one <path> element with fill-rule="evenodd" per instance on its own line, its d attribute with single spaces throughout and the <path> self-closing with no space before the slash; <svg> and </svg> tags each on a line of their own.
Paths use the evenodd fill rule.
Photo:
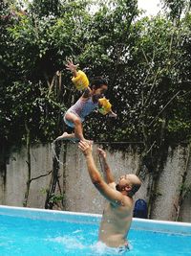
<svg viewBox="0 0 191 256">
<path fill-rule="evenodd" d="M 95 95 L 102 95 L 107 91 L 108 83 L 102 77 L 96 77 L 91 83 L 91 88 Z"/>
</svg>

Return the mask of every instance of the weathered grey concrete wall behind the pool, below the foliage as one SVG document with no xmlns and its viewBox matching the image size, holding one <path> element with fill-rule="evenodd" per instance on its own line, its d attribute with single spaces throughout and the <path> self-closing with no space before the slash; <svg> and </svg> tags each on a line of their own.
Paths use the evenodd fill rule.
<svg viewBox="0 0 191 256">
<path fill-rule="evenodd" d="M 94 155 L 96 165 L 100 170 L 100 164 Z M 64 150 L 66 150 L 66 163 L 60 164 L 60 184 L 65 190 L 65 210 L 87 213 L 102 213 L 104 198 L 99 195 L 91 183 L 87 173 L 85 159 L 76 145 L 67 144 L 67 149 L 62 146 L 60 161 L 63 161 Z M 180 194 L 182 174 L 185 170 L 187 149 L 177 147 L 169 149 L 169 154 L 164 168 L 159 175 L 158 197 L 154 203 L 152 219 L 174 220 L 175 204 Z M 53 151 L 51 145 L 35 146 L 31 150 L 32 155 L 32 177 L 48 174 L 53 168 Z M 127 146 L 126 151 L 107 150 L 108 162 L 115 178 L 125 173 L 135 174 L 138 170 L 138 150 Z M 65 180 L 64 181 L 64 176 Z M 136 198 L 147 199 L 147 189 L 150 184 L 150 175 L 145 173 L 143 184 Z M 43 191 L 49 187 L 51 175 L 32 180 L 29 204 L 30 207 L 44 208 L 46 195 Z M 191 163 L 188 163 L 187 185 L 191 180 Z M 0 176 L 0 203 L 5 205 L 22 206 L 27 182 L 27 152 L 25 149 L 11 154 L 10 162 L 7 164 L 6 179 Z M 180 209 L 180 220 L 191 222 L 191 197 L 185 198 Z"/>
</svg>

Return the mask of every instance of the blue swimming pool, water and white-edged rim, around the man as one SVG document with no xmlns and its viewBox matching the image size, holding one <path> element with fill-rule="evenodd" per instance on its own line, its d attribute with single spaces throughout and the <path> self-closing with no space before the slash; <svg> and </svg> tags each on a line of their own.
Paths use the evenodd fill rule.
<svg viewBox="0 0 191 256">
<path fill-rule="evenodd" d="M 97 243 L 100 215 L 0 206 L 0 256 L 121 255 Z M 122 255 L 191 255 L 191 224 L 134 219 Z"/>
</svg>

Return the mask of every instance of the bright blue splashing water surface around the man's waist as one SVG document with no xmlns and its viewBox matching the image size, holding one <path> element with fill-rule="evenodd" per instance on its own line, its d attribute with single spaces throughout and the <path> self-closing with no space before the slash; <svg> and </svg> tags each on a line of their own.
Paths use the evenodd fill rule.
<svg viewBox="0 0 191 256">
<path fill-rule="evenodd" d="M 191 255 L 191 236 L 134 230 L 131 249 L 97 243 L 98 224 L 0 216 L 0 256 Z"/>
</svg>

